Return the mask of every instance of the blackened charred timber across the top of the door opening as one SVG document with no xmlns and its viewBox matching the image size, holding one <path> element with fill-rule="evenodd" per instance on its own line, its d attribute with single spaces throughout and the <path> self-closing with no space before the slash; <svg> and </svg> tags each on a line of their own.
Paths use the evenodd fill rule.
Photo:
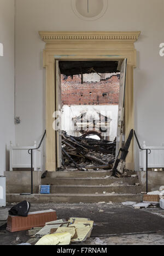
<svg viewBox="0 0 164 256">
<path fill-rule="evenodd" d="M 119 62 L 116 61 L 60 61 L 61 74 L 66 76 L 90 73 L 117 73 Z"/>
</svg>

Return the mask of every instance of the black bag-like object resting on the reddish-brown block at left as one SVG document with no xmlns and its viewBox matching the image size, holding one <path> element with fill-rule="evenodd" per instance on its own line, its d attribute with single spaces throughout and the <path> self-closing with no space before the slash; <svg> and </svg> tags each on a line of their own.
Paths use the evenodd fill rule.
<svg viewBox="0 0 164 256">
<path fill-rule="evenodd" d="M 31 207 L 31 204 L 29 202 L 23 201 L 19 204 L 14 205 L 9 210 L 9 215 L 27 217 L 30 207 Z"/>
</svg>

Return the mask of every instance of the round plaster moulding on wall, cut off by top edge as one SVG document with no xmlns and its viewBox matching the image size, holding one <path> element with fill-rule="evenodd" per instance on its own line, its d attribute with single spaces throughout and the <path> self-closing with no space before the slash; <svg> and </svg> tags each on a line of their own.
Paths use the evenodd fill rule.
<svg viewBox="0 0 164 256">
<path fill-rule="evenodd" d="M 71 0 L 72 10 L 80 19 L 92 21 L 101 18 L 108 8 L 108 0 Z"/>
</svg>

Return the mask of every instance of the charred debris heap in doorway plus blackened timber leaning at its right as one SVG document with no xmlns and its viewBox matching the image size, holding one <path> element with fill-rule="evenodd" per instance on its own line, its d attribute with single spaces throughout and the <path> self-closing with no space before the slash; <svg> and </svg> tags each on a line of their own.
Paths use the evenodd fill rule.
<svg viewBox="0 0 164 256">
<path fill-rule="evenodd" d="M 113 142 L 101 140 L 101 132 L 85 131 L 82 136 L 69 136 L 62 132 L 62 166 L 58 170 L 76 168 L 86 170 L 112 170 L 112 176 L 126 176 L 125 168 L 128 148 L 133 137 L 133 129 L 130 131 L 124 147 L 120 148 L 115 157 L 116 138 Z M 90 138 L 98 135 L 100 140 Z"/>
</svg>

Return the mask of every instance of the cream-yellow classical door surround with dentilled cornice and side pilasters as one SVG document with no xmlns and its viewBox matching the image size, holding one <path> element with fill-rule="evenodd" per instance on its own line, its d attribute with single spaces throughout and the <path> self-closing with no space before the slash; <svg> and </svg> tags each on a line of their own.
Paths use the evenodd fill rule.
<svg viewBox="0 0 164 256">
<path fill-rule="evenodd" d="M 125 91 L 125 140 L 134 129 L 133 69 L 140 31 L 39 31 L 45 42 L 43 66 L 46 69 L 46 170 L 56 171 L 56 133 L 53 129 L 55 100 L 55 61 L 118 60 L 127 58 Z M 134 170 L 133 141 L 126 158 L 126 168 Z"/>
</svg>

